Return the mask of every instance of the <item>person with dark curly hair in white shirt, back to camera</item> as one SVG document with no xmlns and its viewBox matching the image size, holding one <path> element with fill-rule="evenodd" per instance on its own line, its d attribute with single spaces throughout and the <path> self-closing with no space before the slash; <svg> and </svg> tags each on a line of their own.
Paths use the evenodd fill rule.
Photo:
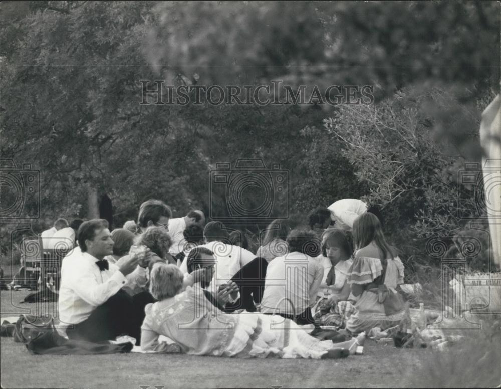
<svg viewBox="0 0 501 389">
<path fill-rule="evenodd" d="M 320 254 L 320 242 L 311 231 L 293 230 L 287 244 L 289 254 L 268 264 L 260 311 L 298 324 L 313 324 L 310 308 L 324 275 L 324 268 L 314 258 Z"/>
</svg>

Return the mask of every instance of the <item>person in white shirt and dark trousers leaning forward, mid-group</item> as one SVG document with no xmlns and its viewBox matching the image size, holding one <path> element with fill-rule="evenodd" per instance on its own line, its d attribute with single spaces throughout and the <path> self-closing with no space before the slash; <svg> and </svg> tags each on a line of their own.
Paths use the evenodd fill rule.
<svg viewBox="0 0 501 389">
<path fill-rule="evenodd" d="M 209 222 L 203 230 L 203 236 L 207 243 L 198 247 L 205 247 L 214 253 L 216 258 L 215 274 L 212 282 L 214 287 L 234 281 L 240 292 L 238 301 L 231 301 L 226 305 L 226 312 L 245 309 L 255 312 L 255 303 L 261 302 L 266 268 L 268 262 L 264 258 L 256 256 L 239 246 L 229 244 L 228 232 L 221 222 Z M 189 254 L 188 254 L 189 256 Z M 180 266 L 181 272 L 187 273 L 187 261 L 184 259 Z"/>
</svg>

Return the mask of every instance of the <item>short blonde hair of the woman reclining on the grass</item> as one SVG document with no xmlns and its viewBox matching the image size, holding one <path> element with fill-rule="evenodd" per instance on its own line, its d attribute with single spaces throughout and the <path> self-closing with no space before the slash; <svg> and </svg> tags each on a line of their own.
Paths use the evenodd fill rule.
<svg viewBox="0 0 501 389">
<path fill-rule="evenodd" d="M 157 300 L 174 297 L 183 287 L 183 274 L 176 265 L 157 262 L 150 273 L 150 293 Z"/>
</svg>

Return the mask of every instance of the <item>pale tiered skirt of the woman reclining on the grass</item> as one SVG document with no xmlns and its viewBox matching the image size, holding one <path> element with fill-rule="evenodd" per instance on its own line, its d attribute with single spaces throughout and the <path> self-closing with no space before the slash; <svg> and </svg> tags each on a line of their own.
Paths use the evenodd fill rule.
<svg viewBox="0 0 501 389">
<path fill-rule="evenodd" d="M 330 340 L 310 336 L 312 330 L 313 325 L 300 326 L 282 316 L 244 312 L 239 314 L 234 337 L 223 355 L 320 359 L 335 346 Z"/>
</svg>

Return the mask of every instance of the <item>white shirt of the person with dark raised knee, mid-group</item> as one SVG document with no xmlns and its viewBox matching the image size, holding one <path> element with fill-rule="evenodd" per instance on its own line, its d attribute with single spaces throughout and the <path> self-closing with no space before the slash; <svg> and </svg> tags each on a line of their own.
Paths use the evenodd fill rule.
<svg viewBox="0 0 501 389">
<path fill-rule="evenodd" d="M 256 258 L 256 255 L 240 246 L 227 245 L 214 241 L 197 247 L 205 247 L 214 253 L 216 259 L 214 279 L 215 285 L 225 284 L 246 264 Z M 183 274 L 188 272 L 187 259 L 189 253 L 184 257 L 180 266 Z M 213 284 L 212 282 L 211 284 Z"/>
</svg>

